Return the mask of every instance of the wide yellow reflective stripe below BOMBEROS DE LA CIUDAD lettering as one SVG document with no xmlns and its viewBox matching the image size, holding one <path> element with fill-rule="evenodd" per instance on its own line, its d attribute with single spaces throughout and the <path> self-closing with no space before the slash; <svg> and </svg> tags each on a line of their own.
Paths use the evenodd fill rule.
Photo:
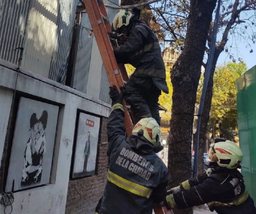
<svg viewBox="0 0 256 214">
<path fill-rule="evenodd" d="M 141 186 L 108 170 L 108 181 L 138 196 L 149 198 L 153 189 Z"/>
</svg>

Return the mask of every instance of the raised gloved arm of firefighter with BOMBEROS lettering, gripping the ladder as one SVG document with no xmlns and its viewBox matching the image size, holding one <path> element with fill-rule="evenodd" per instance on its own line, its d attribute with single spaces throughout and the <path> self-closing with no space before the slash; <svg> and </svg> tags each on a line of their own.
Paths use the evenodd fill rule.
<svg viewBox="0 0 256 214">
<path fill-rule="evenodd" d="M 115 147 L 120 145 L 125 140 L 125 124 L 124 124 L 124 109 L 122 104 L 122 93 L 117 91 L 115 86 L 110 87 L 110 98 L 112 99 L 112 108 L 108 117 L 107 136 L 108 150 L 107 155 L 110 156 Z"/>
</svg>

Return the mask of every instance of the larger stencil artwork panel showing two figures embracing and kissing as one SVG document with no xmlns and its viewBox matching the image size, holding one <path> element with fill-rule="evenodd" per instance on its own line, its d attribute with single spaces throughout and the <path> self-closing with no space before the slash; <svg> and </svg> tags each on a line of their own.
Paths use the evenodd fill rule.
<svg viewBox="0 0 256 214">
<path fill-rule="evenodd" d="M 21 97 L 5 191 L 49 183 L 59 107 Z"/>
</svg>

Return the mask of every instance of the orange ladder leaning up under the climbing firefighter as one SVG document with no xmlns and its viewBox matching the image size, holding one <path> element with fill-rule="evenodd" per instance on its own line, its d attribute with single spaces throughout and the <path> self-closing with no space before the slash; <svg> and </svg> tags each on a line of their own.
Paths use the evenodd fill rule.
<svg viewBox="0 0 256 214">
<path fill-rule="evenodd" d="M 102 0 L 84 0 L 84 4 L 110 85 L 116 85 L 120 91 L 120 87 L 124 83 L 123 81 L 127 82 L 129 77 L 125 66 L 123 64 L 118 65 L 115 59 L 112 44 L 108 38 L 108 31 L 111 31 L 111 24 L 108 20 L 105 5 Z M 133 129 L 133 123 L 126 108 L 125 101 L 123 101 L 123 107 L 125 110 L 125 129 L 127 135 L 130 136 Z M 166 211 L 165 207 L 154 207 L 155 214 L 165 214 Z"/>
</svg>

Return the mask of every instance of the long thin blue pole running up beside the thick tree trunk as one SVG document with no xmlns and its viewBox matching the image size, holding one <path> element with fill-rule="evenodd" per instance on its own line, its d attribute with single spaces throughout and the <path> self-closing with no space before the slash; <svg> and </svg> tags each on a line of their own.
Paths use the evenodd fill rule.
<svg viewBox="0 0 256 214">
<path fill-rule="evenodd" d="M 195 177 L 197 175 L 198 153 L 199 153 L 199 131 L 200 131 L 200 124 L 201 124 L 201 117 L 202 117 L 202 113 L 203 113 L 203 104 L 204 104 L 204 100 L 205 100 L 205 94 L 206 94 L 210 74 L 212 71 L 212 62 L 213 62 L 213 55 L 214 55 L 214 51 L 215 51 L 216 37 L 217 37 L 217 33 L 218 33 L 218 20 L 219 20 L 219 16 L 220 16 L 221 2 L 222 2 L 221 0 L 218 0 L 218 6 L 217 6 L 217 10 L 216 10 L 216 16 L 215 16 L 214 27 L 213 27 L 213 32 L 212 32 L 210 54 L 208 56 L 208 63 L 207 63 L 207 67 L 205 70 L 205 77 L 203 79 L 203 89 L 202 89 L 202 95 L 201 95 L 201 100 L 200 100 L 200 104 L 199 104 L 199 110 L 198 110 L 193 177 Z"/>
</svg>

